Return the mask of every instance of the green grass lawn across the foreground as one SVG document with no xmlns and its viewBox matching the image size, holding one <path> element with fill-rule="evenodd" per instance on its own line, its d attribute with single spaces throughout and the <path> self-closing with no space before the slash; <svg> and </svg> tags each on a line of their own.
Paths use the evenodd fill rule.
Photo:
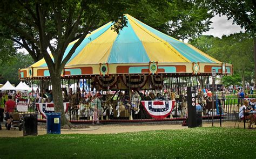
<svg viewBox="0 0 256 159">
<path fill-rule="evenodd" d="M 255 158 L 255 136 L 213 127 L 0 138 L 0 158 Z"/>
</svg>

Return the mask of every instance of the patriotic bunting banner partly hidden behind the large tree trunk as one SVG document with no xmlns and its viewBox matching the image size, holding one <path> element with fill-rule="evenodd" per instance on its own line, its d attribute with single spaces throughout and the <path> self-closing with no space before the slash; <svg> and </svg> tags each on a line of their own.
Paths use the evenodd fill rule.
<svg viewBox="0 0 256 159">
<path fill-rule="evenodd" d="M 69 103 L 63 103 L 65 113 L 69 110 Z M 54 105 L 53 103 L 36 103 L 37 110 L 41 115 L 46 118 L 45 113 L 53 113 Z"/>
</svg>

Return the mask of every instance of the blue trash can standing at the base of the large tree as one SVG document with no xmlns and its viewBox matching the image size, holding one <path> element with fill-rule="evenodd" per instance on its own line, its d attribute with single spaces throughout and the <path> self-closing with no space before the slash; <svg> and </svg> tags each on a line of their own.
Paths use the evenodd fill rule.
<svg viewBox="0 0 256 159">
<path fill-rule="evenodd" d="M 48 134 L 60 134 L 60 114 L 61 113 L 45 113 L 46 114 L 46 130 Z"/>
</svg>

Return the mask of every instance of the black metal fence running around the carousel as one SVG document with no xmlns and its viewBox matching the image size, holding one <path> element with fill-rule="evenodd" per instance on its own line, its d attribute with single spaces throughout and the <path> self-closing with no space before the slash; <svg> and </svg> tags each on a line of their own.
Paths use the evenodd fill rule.
<svg viewBox="0 0 256 159">
<path fill-rule="evenodd" d="M 198 100 L 198 99 L 197 99 Z M 234 112 L 239 112 L 242 100 L 238 98 L 223 98 L 214 101 L 214 109 L 212 111 L 212 102 L 205 102 L 201 104 L 203 107 L 203 121 L 211 122 L 212 113 L 216 120 L 220 118 L 222 121 L 234 121 Z M 198 103 L 199 101 L 197 101 Z M 79 104 L 76 106 L 69 106 L 66 112 L 66 118 L 73 123 L 90 123 L 95 115 L 97 103 L 90 102 Z M 166 118 L 154 119 L 144 108 L 141 102 L 131 102 L 130 104 L 123 104 L 122 102 L 100 102 L 98 107 L 98 117 L 100 122 L 145 122 L 145 121 L 173 121 L 176 124 L 181 124 L 187 117 L 187 102 L 177 100 L 173 109 Z M 45 122 L 45 117 L 38 110 L 36 103 L 31 103 L 28 107 L 28 112 L 23 113 L 38 113 L 38 121 Z"/>
</svg>

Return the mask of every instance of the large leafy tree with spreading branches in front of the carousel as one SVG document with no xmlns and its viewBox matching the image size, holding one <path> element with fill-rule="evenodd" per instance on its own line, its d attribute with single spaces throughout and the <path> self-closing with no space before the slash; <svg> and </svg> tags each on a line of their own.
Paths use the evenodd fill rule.
<svg viewBox="0 0 256 159">
<path fill-rule="evenodd" d="M 32 54 L 32 57 L 35 54 L 44 57 L 51 76 L 55 111 L 62 112 L 62 125 L 68 123 L 65 118 L 60 88 L 60 74 L 66 62 L 87 33 L 93 27 L 102 24 L 103 21 L 114 21 L 112 29 L 118 33 L 126 25 L 123 13 L 136 2 L 133 0 L 4 0 L 0 2 L 1 33 L 4 35 L 9 33 L 14 41 L 23 45 Z M 146 2 L 152 6 L 165 6 L 167 3 L 150 0 Z M 77 41 L 64 56 L 69 43 L 75 39 Z M 56 40 L 55 44 L 51 44 L 52 40 Z M 33 57 L 33 59 L 35 58 Z"/>
</svg>

